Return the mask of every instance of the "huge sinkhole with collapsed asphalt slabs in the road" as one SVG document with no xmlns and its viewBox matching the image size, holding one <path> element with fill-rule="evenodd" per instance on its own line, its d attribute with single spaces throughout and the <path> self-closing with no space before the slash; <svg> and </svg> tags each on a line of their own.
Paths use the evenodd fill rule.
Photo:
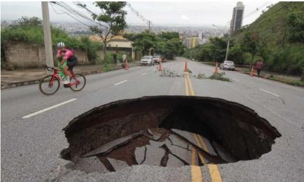
<svg viewBox="0 0 304 182">
<path fill-rule="evenodd" d="M 281 134 L 250 108 L 210 97 L 158 96 L 115 101 L 64 128 L 61 157 L 83 170 L 128 165 L 180 167 L 258 159 Z M 92 170 L 88 170 L 92 171 Z"/>
</svg>

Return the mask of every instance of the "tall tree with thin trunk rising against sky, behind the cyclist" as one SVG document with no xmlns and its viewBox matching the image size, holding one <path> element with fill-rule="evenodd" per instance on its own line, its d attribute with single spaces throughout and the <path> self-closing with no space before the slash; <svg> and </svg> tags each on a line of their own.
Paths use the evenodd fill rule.
<svg viewBox="0 0 304 182">
<path fill-rule="evenodd" d="M 95 6 L 100 8 L 101 13 L 92 13 L 95 21 L 99 21 L 99 26 L 91 26 L 90 30 L 99 35 L 104 43 L 104 54 L 106 54 L 106 44 L 113 37 L 120 34 L 126 28 L 126 6 L 124 1 L 96 1 Z"/>
</svg>

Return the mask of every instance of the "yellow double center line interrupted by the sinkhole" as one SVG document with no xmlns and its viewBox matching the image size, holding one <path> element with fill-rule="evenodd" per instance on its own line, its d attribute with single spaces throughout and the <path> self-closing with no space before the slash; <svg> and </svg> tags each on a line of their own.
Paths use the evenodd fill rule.
<svg viewBox="0 0 304 182">
<path fill-rule="evenodd" d="M 187 96 L 195 96 L 194 90 L 192 87 L 191 80 L 189 78 L 188 72 L 184 72 L 184 82 L 185 82 L 185 91 Z M 190 93 L 190 94 L 189 94 Z M 196 143 L 200 148 L 203 148 L 206 152 L 209 152 L 208 148 L 206 147 L 204 141 L 198 134 L 194 134 L 194 138 L 196 139 Z M 200 167 L 196 165 L 195 157 L 196 157 L 196 150 L 195 148 L 192 148 L 192 155 L 191 155 L 191 179 L 192 181 L 203 181 L 202 178 L 202 171 L 200 170 Z M 198 156 L 200 156 L 200 160 L 202 163 L 206 163 L 207 160 L 202 156 L 202 154 L 198 153 Z M 220 176 L 220 172 L 218 171 L 218 165 L 215 164 L 209 164 L 207 165 L 209 168 L 209 173 L 211 176 L 211 181 L 213 182 L 222 182 L 222 177 Z"/>
</svg>

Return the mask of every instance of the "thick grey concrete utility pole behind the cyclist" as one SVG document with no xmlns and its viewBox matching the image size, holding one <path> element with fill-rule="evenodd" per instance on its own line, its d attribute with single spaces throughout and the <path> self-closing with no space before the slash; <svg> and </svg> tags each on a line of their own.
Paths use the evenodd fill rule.
<svg viewBox="0 0 304 182">
<path fill-rule="evenodd" d="M 46 65 L 53 67 L 53 48 L 50 37 L 50 15 L 48 13 L 48 1 L 41 1 L 42 17 L 44 24 L 44 48 L 46 50 Z"/>
</svg>

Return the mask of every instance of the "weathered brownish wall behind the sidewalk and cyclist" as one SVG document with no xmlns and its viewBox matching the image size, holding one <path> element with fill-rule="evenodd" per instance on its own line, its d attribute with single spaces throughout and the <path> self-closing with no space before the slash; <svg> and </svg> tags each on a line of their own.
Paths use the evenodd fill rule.
<svg viewBox="0 0 304 182">
<path fill-rule="evenodd" d="M 56 60 L 56 47 L 53 48 L 53 52 Z M 86 52 L 77 49 L 74 52 L 79 65 L 90 64 Z M 5 54 L 7 64 L 13 68 L 42 68 L 46 65 L 44 45 L 37 43 L 8 43 Z M 57 65 L 57 61 L 54 65 Z"/>
</svg>

